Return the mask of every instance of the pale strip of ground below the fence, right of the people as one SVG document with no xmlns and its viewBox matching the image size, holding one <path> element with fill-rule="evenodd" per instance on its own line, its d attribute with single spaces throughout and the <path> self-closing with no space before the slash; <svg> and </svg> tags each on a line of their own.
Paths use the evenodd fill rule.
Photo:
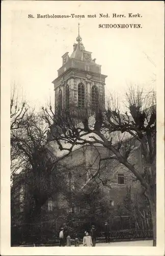
<svg viewBox="0 0 165 256">
<path fill-rule="evenodd" d="M 152 246 L 153 240 L 128 241 L 128 242 L 112 242 L 112 243 L 96 243 L 96 246 Z M 82 246 L 82 245 L 80 245 Z"/>
</svg>

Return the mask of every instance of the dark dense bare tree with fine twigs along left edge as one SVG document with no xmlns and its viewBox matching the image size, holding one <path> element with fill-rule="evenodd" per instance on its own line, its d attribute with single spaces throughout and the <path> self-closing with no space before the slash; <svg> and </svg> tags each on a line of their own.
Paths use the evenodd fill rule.
<svg viewBox="0 0 165 256">
<path fill-rule="evenodd" d="M 32 223 L 39 221 L 44 204 L 65 190 L 64 172 L 58 164 L 56 151 L 47 142 L 47 126 L 39 113 L 23 101 L 11 98 L 11 217 L 25 224 L 26 237 Z M 15 103 L 14 103 L 15 102 Z"/>
</svg>

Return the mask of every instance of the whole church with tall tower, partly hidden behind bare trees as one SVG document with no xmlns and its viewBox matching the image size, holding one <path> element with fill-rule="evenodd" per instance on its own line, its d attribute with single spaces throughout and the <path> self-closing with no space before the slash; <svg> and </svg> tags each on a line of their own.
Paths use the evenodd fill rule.
<svg viewBox="0 0 165 256">
<path fill-rule="evenodd" d="M 106 77 L 101 73 L 101 65 L 96 63 L 95 58 L 92 58 L 92 52 L 87 51 L 82 44 L 78 24 L 78 35 L 76 43 L 73 45 L 73 52 L 70 56 L 68 52 L 62 56 L 62 67 L 58 70 L 58 77 L 52 81 L 55 114 L 69 110 L 69 114 L 73 114 L 73 118 L 79 120 L 77 114 L 87 111 L 88 117 L 93 122 L 95 110 L 97 108 L 105 109 Z M 52 129 L 56 131 L 54 126 L 52 125 Z M 143 209 L 146 206 L 144 207 L 142 196 L 137 197 L 142 195 L 143 191 L 141 191 L 140 182 L 135 179 L 130 170 L 116 159 L 100 161 L 102 158 L 114 155 L 99 143 L 75 145 L 71 154 L 66 156 L 68 152 L 60 151 L 59 145 L 51 139 L 52 137 L 48 133 L 48 146 L 52 147 L 53 153 L 56 152 L 55 155 L 59 159 L 58 168 L 61 168 L 65 177 L 64 189 L 60 189 L 60 191 L 64 190 L 64 193 L 51 195 L 51 198 L 42 207 L 40 223 L 36 224 L 37 230 L 46 234 L 45 239 L 54 234 L 59 236 L 60 227 L 64 223 L 70 223 L 68 221 L 70 219 L 73 221 L 69 224 L 72 229 L 69 232 L 74 234 L 78 230 L 76 223 L 79 225 L 80 222 L 82 225 L 87 224 L 87 228 L 90 228 L 92 223 L 98 227 L 98 224 L 104 223 L 105 220 L 111 224 L 112 230 L 136 228 L 137 221 L 141 221 L 136 214 L 142 205 Z M 115 136 L 113 143 L 114 146 L 118 146 Z M 132 148 L 128 161 L 130 164 L 134 164 L 135 168 L 142 170 L 141 145 L 135 140 L 132 140 L 131 143 Z M 54 171 L 56 172 L 56 168 Z M 53 186 L 53 178 L 50 179 Z M 19 211 L 23 214 L 21 185 L 19 190 L 20 195 L 17 195 L 17 201 Z M 15 191 L 12 194 L 15 195 Z M 132 202 L 136 204 L 136 209 L 133 208 Z M 132 211 L 130 211 L 130 207 L 132 207 Z M 148 211 L 146 210 L 146 212 Z M 141 223 L 138 224 L 139 228 L 144 228 L 143 223 L 146 223 L 147 216 L 144 214 L 142 226 Z M 146 226 L 147 228 L 149 229 L 149 225 Z M 82 229 L 83 227 L 81 227 L 81 231 Z"/>
</svg>

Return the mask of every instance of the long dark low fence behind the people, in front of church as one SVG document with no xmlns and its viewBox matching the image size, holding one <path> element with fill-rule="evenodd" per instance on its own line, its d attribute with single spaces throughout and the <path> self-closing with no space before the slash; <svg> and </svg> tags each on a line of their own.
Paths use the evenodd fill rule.
<svg viewBox="0 0 165 256">
<path fill-rule="evenodd" d="M 58 240 L 60 228 L 65 223 L 65 220 L 50 220 L 31 225 L 31 237 L 26 236 L 25 224 L 13 226 L 11 228 L 12 244 L 20 244 L 22 242 L 40 243 L 49 240 Z M 90 231 L 91 225 L 95 225 L 97 229 L 98 239 L 104 237 L 104 227 L 102 222 L 86 222 L 86 221 L 70 221 L 67 223 L 68 234 L 75 238 L 77 236 L 82 239 L 84 231 Z M 144 223 L 140 221 L 138 225 L 129 218 L 113 218 L 109 220 L 110 236 L 112 240 L 119 239 L 134 239 L 134 238 L 152 238 L 152 227 L 146 228 Z"/>
</svg>

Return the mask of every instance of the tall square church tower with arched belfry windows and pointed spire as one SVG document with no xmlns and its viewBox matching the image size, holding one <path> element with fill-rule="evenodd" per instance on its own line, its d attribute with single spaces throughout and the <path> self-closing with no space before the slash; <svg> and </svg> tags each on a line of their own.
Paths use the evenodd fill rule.
<svg viewBox="0 0 165 256">
<path fill-rule="evenodd" d="M 92 52 L 86 51 L 79 34 L 73 45 L 71 56 L 66 52 L 58 77 L 52 81 L 55 91 L 55 111 L 68 108 L 95 110 L 99 102 L 105 103 L 105 78 L 101 65 L 92 59 Z"/>
</svg>

